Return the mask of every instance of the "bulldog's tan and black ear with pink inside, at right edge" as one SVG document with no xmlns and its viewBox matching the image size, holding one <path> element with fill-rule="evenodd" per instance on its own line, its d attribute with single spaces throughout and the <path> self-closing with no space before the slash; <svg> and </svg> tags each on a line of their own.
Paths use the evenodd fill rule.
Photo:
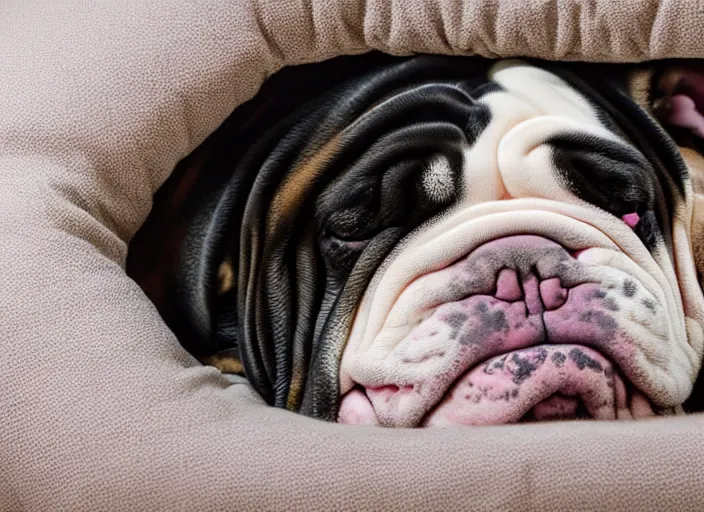
<svg viewBox="0 0 704 512">
<path fill-rule="evenodd" d="M 704 286 L 704 61 L 662 61 L 630 76 L 632 97 L 658 120 L 680 149 L 692 183 L 690 241 Z"/>
</svg>

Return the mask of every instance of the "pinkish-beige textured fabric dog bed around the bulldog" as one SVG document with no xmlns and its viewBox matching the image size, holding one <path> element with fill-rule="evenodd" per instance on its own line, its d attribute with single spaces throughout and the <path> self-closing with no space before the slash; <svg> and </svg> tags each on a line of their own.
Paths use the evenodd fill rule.
<svg viewBox="0 0 704 512">
<path fill-rule="evenodd" d="M 123 266 L 175 163 L 284 64 L 704 57 L 703 17 L 688 0 L 0 4 L 0 509 L 700 508 L 704 418 L 316 422 L 197 365 Z"/>
</svg>

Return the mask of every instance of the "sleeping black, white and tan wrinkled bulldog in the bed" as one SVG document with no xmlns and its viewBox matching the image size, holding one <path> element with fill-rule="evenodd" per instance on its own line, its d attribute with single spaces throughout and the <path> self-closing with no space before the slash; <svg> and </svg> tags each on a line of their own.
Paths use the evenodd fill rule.
<svg viewBox="0 0 704 512">
<path fill-rule="evenodd" d="M 286 69 L 176 169 L 128 272 L 194 356 L 323 420 L 695 410 L 702 77 L 374 54 Z"/>
</svg>

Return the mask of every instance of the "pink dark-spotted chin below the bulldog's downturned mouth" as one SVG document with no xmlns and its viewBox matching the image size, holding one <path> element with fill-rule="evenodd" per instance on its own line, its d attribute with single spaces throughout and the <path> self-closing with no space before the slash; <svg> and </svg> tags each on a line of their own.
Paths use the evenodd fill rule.
<svg viewBox="0 0 704 512">
<path fill-rule="evenodd" d="M 515 423 L 528 413 L 538 421 L 571 419 L 580 403 L 594 419 L 653 415 L 636 395 L 629 400 L 623 381 L 598 352 L 579 345 L 542 345 L 495 357 L 467 372 L 424 426 Z"/>
</svg>

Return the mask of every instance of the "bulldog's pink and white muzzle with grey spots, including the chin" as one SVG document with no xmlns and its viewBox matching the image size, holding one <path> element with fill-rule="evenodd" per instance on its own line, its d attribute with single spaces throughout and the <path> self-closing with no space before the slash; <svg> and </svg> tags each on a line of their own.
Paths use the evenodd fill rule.
<svg viewBox="0 0 704 512">
<path fill-rule="evenodd" d="M 653 329 L 663 320 L 657 300 L 626 274 L 588 276 L 580 263 L 587 253 L 539 236 L 509 236 L 417 280 L 423 293 L 453 300 L 413 308 L 404 323 L 392 312 L 379 337 L 403 331 L 389 356 L 391 374 L 408 376 L 358 383 L 343 398 L 340 421 L 446 426 L 654 414 L 630 384 L 637 344 L 621 326 Z M 374 355 L 364 373 L 373 375 L 375 361 L 384 374 L 385 358 Z M 418 378 L 408 378 L 413 374 Z"/>
</svg>

